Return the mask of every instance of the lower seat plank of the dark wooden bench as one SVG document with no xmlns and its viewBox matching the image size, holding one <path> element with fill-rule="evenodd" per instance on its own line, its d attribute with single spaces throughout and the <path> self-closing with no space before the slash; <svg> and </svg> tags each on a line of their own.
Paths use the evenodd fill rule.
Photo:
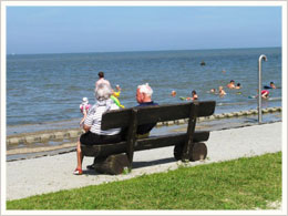
<svg viewBox="0 0 288 216">
<path fill-rule="evenodd" d="M 143 151 L 157 147 L 166 147 L 175 145 L 178 143 L 184 143 L 186 133 L 163 135 L 163 136 L 151 136 L 148 138 L 137 140 L 134 151 Z M 208 131 L 200 131 L 194 133 L 193 142 L 204 142 L 209 138 Z M 116 144 L 103 144 L 103 145 L 81 145 L 83 155 L 85 156 L 96 156 L 105 157 L 111 154 L 120 154 L 126 151 L 126 142 L 121 142 Z"/>
</svg>

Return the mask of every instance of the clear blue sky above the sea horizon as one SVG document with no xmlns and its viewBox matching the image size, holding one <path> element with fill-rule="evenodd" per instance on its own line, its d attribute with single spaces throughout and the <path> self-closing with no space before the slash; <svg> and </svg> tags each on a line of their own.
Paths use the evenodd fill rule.
<svg viewBox="0 0 288 216">
<path fill-rule="evenodd" d="M 8 7 L 7 53 L 281 47 L 280 7 Z"/>
</svg>

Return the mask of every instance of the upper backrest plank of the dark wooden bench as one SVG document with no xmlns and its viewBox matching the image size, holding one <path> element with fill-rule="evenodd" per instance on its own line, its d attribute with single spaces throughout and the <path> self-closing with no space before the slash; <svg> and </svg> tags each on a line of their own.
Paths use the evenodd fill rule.
<svg viewBox="0 0 288 216">
<path fill-rule="evenodd" d="M 203 101 L 198 102 L 199 109 L 197 116 L 208 116 L 215 111 L 215 101 Z M 189 117 L 189 113 L 193 109 L 191 103 L 179 103 L 169 105 L 157 105 L 157 106 L 142 106 L 134 107 L 138 110 L 137 124 L 147 124 L 164 121 L 174 121 Z M 131 109 L 123 109 L 120 111 L 110 111 L 102 116 L 102 130 L 125 127 L 128 126 L 131 119 Z"/>
</svg>

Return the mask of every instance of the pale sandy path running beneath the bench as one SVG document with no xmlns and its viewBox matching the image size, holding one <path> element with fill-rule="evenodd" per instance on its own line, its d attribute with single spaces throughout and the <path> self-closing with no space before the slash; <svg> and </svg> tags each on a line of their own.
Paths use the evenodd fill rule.
<svg viewBox="0 0 288 216">
<path fill-rule="evenodd" d="M 281 151 L 281 122 L 214 131 L 206 142 L 207 158 L 203 162 L 189 163 L 191 166 L 228 161 L 244 156 L 255 156 Z M 173 157 L 173 146 L 136 152 L 134 154 L 133 171 L 126 175 L 100 175 L 94 171 L 86 171 L 85 166 L 93 162 L 93 157 L 85 157 L 84 174 L 72 174 L 76 166 L 75 152 L 43 156 L 31 160 L 7 162 L 7 199 L 18 199 L 38 194 L 58 192 L 97 185 L 112 181 L 122 181 L 151 174 L 175 169 L 181 162 Z"/>
</svg>

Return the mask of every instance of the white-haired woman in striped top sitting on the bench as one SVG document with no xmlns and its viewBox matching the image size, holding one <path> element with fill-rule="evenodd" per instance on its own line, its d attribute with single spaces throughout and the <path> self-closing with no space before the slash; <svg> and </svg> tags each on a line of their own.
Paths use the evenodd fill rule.
<svg viewBox="0 0 288 216">
<path fill-rule="evenodd" d="M 112 128 L 107 131 L 101 130 L 102 114 L 110 110 L 119 110 L 119 106 L 110 99 L 112 92 L 111 86 L 106 83 L 101 83 L 95 89 L 96 103 L 88 113 L 83 125 L 85 133 L 80 136 L 76 146 L 78 166 L 73 172 L 74 175 L 82 174 L 82 161 L 84 156 L 81 152 L 81 144 L 96 145 L 116 143 L 122 140 L 120 134 L 121 128 Z"/>
</svg>

